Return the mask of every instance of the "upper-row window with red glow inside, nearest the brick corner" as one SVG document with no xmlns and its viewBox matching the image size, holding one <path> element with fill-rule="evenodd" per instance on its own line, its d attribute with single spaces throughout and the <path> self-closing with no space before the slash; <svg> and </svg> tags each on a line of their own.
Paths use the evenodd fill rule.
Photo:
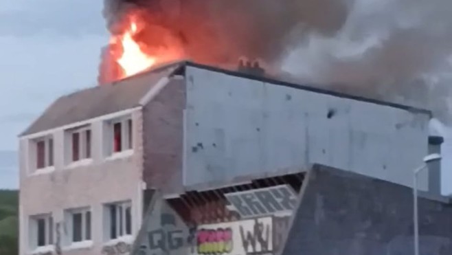
<svg viewBox="0 0 452 255">
<path fill-rule="evenodd" d="M 121 118 L 109 123 L 111 148 L 109 154 L 128 151 L 133 148 L 133 123 L 131 118 Z"/>
</svg>

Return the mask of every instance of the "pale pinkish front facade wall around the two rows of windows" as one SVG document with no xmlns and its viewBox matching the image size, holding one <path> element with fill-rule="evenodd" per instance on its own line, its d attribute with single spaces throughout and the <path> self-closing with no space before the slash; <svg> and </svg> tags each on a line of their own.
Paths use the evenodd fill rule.
<svg viewBox="0 0 452 255">
<path fill-rule="evenodd" d="M 142 144 L 139 137 L 142 122 L 141 111 L 133 113 L 134 153 L 129 157 L 105 159 L 102 151 L 102 120 L 92 122 L 93 162 L 86 166 L 65 168 L 63 162 L 63 129 L 54 133 L 55 169 L 50 173 L 30 175 L 27 169 L 28 140 L 20 141 L 20 254 L 29 251 L 29 217 L 35 214 L 52 213 L 54 223 L 60 229 L 54 230 L 54 241 L 63 254 L 102 254 L 104 246 L 103 204 L 116 201 L 132 201 L 133 232 L 137 232 L 142 222 Z M 67 236 L 63 215 L 65 209 L 91 207 L 93 245 L 84 249 L 67 250 L 63 239 Z M 74 248 L 74 247 L 71 247 Z"/>
</svg>

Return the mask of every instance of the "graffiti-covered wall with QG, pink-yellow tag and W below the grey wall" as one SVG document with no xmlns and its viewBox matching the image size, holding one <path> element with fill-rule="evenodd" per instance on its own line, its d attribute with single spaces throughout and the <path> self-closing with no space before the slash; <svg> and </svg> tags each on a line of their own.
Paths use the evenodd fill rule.
<svg viewBox="0 0 452 255">
<path fill-rule="evenodd" d="M 167 201 L 157 195 L 137 236 L 133 254 L 278 254 L 283 248 L 291 215 L 297 206 L 298 193 L 282 185 L 228 194 L 234 206 L 231 210 L 255 210 L 267 206 L 272 210 L 264 214 L 259 210 L 248 213 L 242 215 L 240 220 L 217 219 L 215 223 L 196 225 L 184 222 L 179 216 L 184 212 L 173 210 Z M 258 194 L 262 195 L 262 200 L 257 199 Z M 238 198 L 240 205 L 234 205 L 233 201 L 237 201 L 234 197 L 241 197 Z M 249 197 L 253 198 L 250 200 Z"/>
</svg>

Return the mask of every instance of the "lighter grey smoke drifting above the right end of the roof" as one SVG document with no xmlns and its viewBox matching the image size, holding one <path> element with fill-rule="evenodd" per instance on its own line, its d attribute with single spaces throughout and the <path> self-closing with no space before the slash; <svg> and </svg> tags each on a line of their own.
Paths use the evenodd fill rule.
<svg viewBox="0 0 452 255">
<path fill-rule="evenodd" d="M 452 1 L 354 0 L 332 35 L 308 32 L 282 68 L 307 82 L 452 112 Z"/>
</svg>

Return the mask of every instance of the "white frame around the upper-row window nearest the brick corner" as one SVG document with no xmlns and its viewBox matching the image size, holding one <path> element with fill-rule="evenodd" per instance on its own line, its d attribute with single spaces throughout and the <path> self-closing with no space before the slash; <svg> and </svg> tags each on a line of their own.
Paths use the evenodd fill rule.
<svg viewBox="0 0 452 255">
<path fill-rule="evenodd" d="M 131 122 L 132 130 L 129 131 L 128 122 Z M 115 142 L 115 124 L 121 124 L 121 151 L 114 150 Z M 133 153 L 134 129 L 135 123 L 131 115 L 122 116 L 106 122 L 106 156 L 115 157 L 116 155 L 131 155 Z M 131 137 L 129 137 L 129 134 Z"/>
</svg>

